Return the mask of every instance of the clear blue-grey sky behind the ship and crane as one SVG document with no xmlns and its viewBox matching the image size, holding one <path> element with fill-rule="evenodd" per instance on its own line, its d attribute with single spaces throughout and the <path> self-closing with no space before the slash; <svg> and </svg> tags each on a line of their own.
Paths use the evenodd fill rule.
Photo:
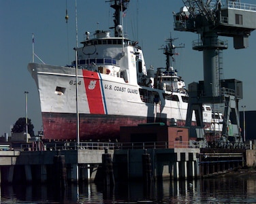
<svg viewBox="0 0 256 204">
<path fill-rule="evenodd" d="M 85 31 L 109 30 L 112 27 L 112 8 L 105 0 L 77 0 L 78 42 Z M 256 3 L 255 0 L 242 0 Z M 165 67 L 162 46 L 172 35 L 176 46 L 176 69 L 186 84 L 203 80 L 202 52 L 192 50 L 198 35 L 174 31 L 172 12 L 179 12 L 182 0 L 131 0 L 123 28 L 131 40 L 137 40 L 144 51 L 147 68 Z M 69 20 L 66 23 L 65 13 Z M 76 9 L 74 0 L 0 0 L 0 136 L 10 135 L 18 118 L 26 116 L 25 91 L 29 92 L 28 118 L 35 135 L 42 130 L 39 95 L 27 70 L 32 61 L 32 33 L 35 54 L 50 65 L 70 65 L 76 47 Z M 249 37 L 249 48 L 235 50 L 233 39 L 225 37 L 229 48 L 223 51 L 223 78 L 243 82 L 243 99 L 239 109 L 256 110 L 256 31 Z M 40 61 L 35 58 L 35 62 Z"/>
</svg>

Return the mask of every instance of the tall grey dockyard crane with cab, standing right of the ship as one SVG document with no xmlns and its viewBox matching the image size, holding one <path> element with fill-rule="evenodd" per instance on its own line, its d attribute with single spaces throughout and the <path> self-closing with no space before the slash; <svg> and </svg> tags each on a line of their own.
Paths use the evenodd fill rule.
<svg viewBox="0 0 256 204">
<path fill-rule="evenodd" d="M 195 111 L 197 127 L 203 127 L 202 104 L 222 103 L 224 120 L 221 134 L 229 141 L 240 142 L 238 101 L 242 99 L 242 82 L 221 78 L 222 53 L 228 45 L 227 40 L 221 40 L 219 36 L 233 37 L 235 49 L 247 48 L 249 36 L 256 29 L 256 5 L 241 3 L 240 0 L 182 1 L 184 6 L 180 12 L 174 13 L 174 30 L 199 34 L 200 39 L 193 41 L 193 50 L 202 51 L 204 58 L 204 81 L 189 84 L 186 126 L 191 126 Z M 234 125 L 232 135 L 228 131 L 230 121 Z M 193 128 L 191 134 L 196 135 Z"/>
</svg>

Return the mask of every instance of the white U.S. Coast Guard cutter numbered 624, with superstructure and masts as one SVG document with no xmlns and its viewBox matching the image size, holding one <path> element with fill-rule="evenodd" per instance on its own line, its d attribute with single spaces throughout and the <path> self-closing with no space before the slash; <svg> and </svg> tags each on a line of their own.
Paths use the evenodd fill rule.
<svg viewBox="0 0 256 204">
<path fill-rule="evenodd" d="M 115 10 L 113 37 L 110 31 L 97 30 L 93 37 L 86 32 L 82 47 L 77 49 L 77 73 L 76 61 L 71 67 L 29 63 L 39 90 L 45 139 L 76 139 L 77 111 L 81 141 L 116 139 L 120 126 L 146 122 L 169 125 L 171 118 L 185 125 L 185 82 L 170 63 L 157 73 L 146 69 L 138 42 L 123 35 L 121 13 L 128 3 L 110 1 Z M 167 59 L 174 49 L 170 39 L 164 49 Z"/>
</svg>

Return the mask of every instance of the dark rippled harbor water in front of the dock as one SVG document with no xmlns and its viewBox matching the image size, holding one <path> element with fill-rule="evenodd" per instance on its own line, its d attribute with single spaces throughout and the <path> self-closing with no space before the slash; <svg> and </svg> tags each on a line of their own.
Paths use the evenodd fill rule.
<svg viewBox="0 0 256 204">
<path fill-rule="evenodd" d="M 1 203 L 256 203 L 256 172 L 238 171 L 199 180 L 102 184 L 1 184 Z"/>
</svg>

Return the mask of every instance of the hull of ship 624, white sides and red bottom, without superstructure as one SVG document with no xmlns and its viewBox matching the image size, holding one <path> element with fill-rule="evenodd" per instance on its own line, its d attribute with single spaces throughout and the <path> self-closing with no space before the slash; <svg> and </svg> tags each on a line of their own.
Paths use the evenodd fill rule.
<svg viewBox="0 0 256 204">
<path fill-rule="evenodd" d="M 45 139 L 76 139 L 76 69 L 30 63 L 39 90 Z M 161 103 L 142 99 L 140 90 L 158 92 Z M 80 139 L 118 139 L 120 126 L 165 122 L 185 125 L 185 94 L 179 101 L 163 99 L 165 90 L 131 85 L 123 78 L 78 69 Z M 148 100 L 148 101 L 147 101 Z M 163 102 L 164 101 L 164 102 Z"/>
</svg>

